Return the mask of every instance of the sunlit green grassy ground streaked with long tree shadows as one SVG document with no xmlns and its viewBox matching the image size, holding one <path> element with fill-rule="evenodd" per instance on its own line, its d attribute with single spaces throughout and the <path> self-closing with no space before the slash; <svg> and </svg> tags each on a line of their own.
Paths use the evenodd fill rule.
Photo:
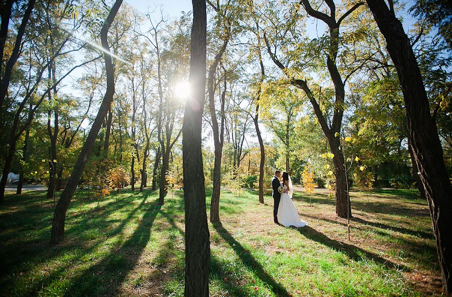
<svg viewBox="0 0 452 297">
<path fill-rule="evenodd" d="M 163 206 L 157 194 L 125 190 L 96 207 L 77 192 L 57 246 L 49 243 L 53 200 L 8 194 L 0 206 L 0 295 L 183 296 L 182 192 Z M 328 194 L 295 193 L 309 223 L 298 230 L 275 225 L 265 199 L 221 194 L 222 224 L 209 224 L 211 296 L 439 293 L 428 206 L 414 191 L 353 193 L 351 241 Z"/>
</svg>

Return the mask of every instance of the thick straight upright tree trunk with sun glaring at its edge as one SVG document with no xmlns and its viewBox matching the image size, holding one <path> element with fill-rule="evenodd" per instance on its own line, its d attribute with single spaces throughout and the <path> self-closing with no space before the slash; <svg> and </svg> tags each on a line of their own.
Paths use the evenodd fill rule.
<svg viewBox="0 0 452 297">
<path fill-rule="evenodd" d="M 189 84 L 185 104 L 182 159 L 185 199 L 185 297 L 208 297 L 210 242 L 201 152 L 205 99 L 207 16 L 203 0 L 193 0 Z"/>
</svg>

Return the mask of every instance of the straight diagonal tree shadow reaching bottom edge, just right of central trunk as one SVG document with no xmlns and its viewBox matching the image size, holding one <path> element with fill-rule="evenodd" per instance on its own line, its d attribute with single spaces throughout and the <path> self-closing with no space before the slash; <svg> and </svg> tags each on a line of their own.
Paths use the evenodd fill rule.
<svg viewBox="0 0 452 297">
<path fill-rule="evenodd" d="M 292 295 L 273 277 L 265 271 L 261 263 L 259 263 L 253 255 L 245 248 L 239 241 L 237 241 L 231 233 L 226 230 L 221 223 L 213 224 L 213 227 L 218 234 L 234 249 L 236 254 L 240 257 L 243 264 L 252 269 L 256 275 L 265 283 L 277 296 L 291 297 Z"/>
</svg>

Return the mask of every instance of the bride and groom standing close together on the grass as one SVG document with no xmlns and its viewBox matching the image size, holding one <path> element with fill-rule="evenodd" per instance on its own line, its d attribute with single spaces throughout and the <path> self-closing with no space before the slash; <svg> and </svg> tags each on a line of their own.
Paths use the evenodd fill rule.
<svg viewBox="0 0 452 297">
<path fill-rule="evenodd" d="M 289 173 L 276 170 L 272 178 L 272 197 L 275 201 L 273 207 L 273 218 L 275 223 L 289 227 L 304 227 L 307 222 L 302 221 L 298 215 L 297 208 L 292 201 L 293 185 Z"/>
</svg>

